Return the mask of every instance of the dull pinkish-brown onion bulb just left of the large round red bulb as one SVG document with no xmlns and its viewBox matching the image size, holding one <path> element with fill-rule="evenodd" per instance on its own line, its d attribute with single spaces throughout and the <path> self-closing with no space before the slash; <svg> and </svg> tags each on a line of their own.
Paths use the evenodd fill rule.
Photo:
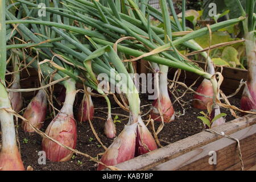
<svg viewBox="0 0 256 182">
<path fill-rule="evenodd" d="M 28 104 L 27 109 L 24 111 L 23 117 L 28 120 L 33 126 L 37 129 L 41 129 L 46 119 L 47 112 L 47 96 L 44 90 L 39 90 L 38 94 L 30 104 Z M 34 130 L 32 127 L 25 121 L 22 121 L 22 128 L 25 132 L 32 133 Z"/>
</svg>

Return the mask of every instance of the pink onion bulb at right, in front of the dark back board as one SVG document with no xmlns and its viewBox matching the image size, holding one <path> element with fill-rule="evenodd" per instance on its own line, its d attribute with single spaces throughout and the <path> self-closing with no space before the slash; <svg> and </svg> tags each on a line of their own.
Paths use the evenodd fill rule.
<svg viewBox="0 0 256 182">
<path fill-rule="evenodd" d="M 212 83 L 209 80 L 204 79 L 199 88 L 197 88 L 196 92 L 204 94 L 205 96 L 213 97 L 214 93 Z M 212 104 L 213 98 L 199 96 L 195 94 L 192 106 L 196 109 L 205 110 L 207 109 L 207 104 L 209 102 Z"/>
</svg>

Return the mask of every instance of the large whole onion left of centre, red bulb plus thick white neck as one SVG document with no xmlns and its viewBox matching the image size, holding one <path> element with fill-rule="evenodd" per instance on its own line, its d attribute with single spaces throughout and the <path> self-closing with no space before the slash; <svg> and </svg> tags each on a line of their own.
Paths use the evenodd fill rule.
<svg viewBox="0 0 256 182">
<path fill-rule="evenodd" d="M 46 134 L 65 146 L 75 148 L 77 138 L 76 121 L 73 117 L 73 103 L 76 97 L 75 81 L 73 79 L 65 81 L 65 87 L 67 90 L 63 107 L 47 127 Z M 72 151 L 47 138 L 43 138 L 42 148 L 47 158 L 53 162 L 67 161 L 73 155 Z"/>
</svg>

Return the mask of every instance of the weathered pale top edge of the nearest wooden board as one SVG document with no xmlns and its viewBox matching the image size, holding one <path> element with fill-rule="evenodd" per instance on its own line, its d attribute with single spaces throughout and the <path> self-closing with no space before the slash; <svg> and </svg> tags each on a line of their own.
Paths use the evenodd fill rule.
<svg viewBox="0 0 256 182">
<path fill-rule="evenodd" d="M 245 129 L 256 123 L 256 115 L 249 114 L 245 117 L 234 119 L 233 121 L 227 122 L 224 125 L 214 127 L 214 131 L 221 133 L 224 132 L 226 135 L 230 135 Z M 147 170 L 158 166 L 168 160 L 177 158 L 196 148 L 205 146 L 211 142 L 214 142 L 221 137 L 215 134 L 203 131 L 199 134 L 193 135 L 191 137 L 179 140 L 178 142 L 169 144 L 158 150 L 148 152 L 147 154 L 138 156 L 137 158 L 131 159 L 129 161 L 118 164 L 116 167 L 123 170 Z"/>
</svg>

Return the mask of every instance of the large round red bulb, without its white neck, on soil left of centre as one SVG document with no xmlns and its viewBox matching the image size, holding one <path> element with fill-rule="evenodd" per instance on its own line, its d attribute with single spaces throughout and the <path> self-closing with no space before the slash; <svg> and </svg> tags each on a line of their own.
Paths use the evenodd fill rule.
<svg viewBox="0 0 256 182">
<path fill-rule="evenodd" d="M 65 146 L 73 149 L 76 147 L 76 121 L 73 119 L 73 115 L 68 115 L 65 112 L 57 114 L 45 133 Z M 72 151 L 47 138 L 43 138 L 42 148 L 46 152 L 47 158 L 52 162 L 65 162 L 71 159 L 73 155 Z"/>
</svg>

